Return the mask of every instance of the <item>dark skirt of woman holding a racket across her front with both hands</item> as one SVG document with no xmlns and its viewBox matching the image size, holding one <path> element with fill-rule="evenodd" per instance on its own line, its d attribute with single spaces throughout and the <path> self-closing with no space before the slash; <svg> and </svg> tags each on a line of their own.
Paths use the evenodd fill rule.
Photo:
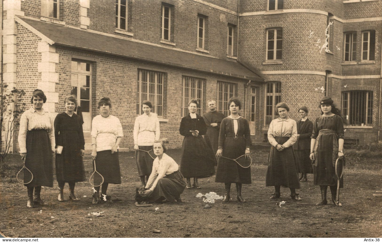
<svg viewBox="0 0 382 242">
<path fill-rule="evenodd" d="M 226 137 L 223 145 L 223 156 L 236 159 L 245 154 L 245 139 L 239 137 Z M 216 168 L 215 182 L 239 182 L 243 184 L 251 184 L 251 167 L 243 168 L 233 160 L 219 159 Z"/>
</svg>

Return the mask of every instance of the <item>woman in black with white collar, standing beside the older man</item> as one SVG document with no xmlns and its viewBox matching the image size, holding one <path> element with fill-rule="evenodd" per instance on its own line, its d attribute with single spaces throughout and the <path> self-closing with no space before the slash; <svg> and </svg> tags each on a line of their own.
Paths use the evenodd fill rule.
<svg viewBox="0 0 382 242">
<path fill-rule="evenodd" d="M 215 156 L 212 148 L 202 137 L 206 134 L 207 126 L 202 116 L 196 113 L 198 105 L 196 99 L 188 103 L 190 113 L 182 118 L 179 128 L 179 133 L 185 137 L 182 144 L 180 171 L 187 179 L 187 189 L 191 188 L 191 177 L 194 177 L 192 187 L 201 188 L 197 179 L 210 177 L 215 173 Z"/>
</svg>

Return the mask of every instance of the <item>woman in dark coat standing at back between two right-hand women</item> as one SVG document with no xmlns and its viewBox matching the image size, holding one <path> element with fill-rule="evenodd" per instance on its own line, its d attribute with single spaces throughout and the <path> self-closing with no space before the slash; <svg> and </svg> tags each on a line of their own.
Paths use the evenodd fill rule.
<svg viewBox="0 0 382 242">
<path fill-rule="evenodd" d="M 309 158 L 310 139 L 313 123 L 308 118 L 308 108 L 302 106 L 298 113 L 301 119 L 297 122 L 297 142 L 293 145 L 298 160 L 301 176 L 300 181 L 308 181 L 307 173 L 313 173 L 312 161 Z"/>
</svg>

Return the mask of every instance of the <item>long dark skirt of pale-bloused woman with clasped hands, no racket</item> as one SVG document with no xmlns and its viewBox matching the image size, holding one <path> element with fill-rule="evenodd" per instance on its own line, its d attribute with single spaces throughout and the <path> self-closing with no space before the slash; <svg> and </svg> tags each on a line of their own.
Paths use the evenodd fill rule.
<svg viewBox="0 0 382 242">
<path fill-rule="evenodd" d="M 284 144 L 289 138 L 275 137 L 278 144 Z M 300 188 L 298 164 L 293 147 L 285 148 L 282 152 L 273 145 L 270 147 L 265 185 Z"/>
</svg>

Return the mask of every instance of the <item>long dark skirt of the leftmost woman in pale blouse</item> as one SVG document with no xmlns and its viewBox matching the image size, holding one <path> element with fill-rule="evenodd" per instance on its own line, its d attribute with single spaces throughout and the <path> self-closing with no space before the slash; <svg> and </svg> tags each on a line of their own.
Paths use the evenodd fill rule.
<svg viewBox="0 0 382 242">
<path fill-rule="evenodd" d="M 53 156 L 48 131 L 28 130 L 26 150 L 25 166 L 32 172 L 33 180 L 25 186 L 53 187 Z"/>
</svg>

